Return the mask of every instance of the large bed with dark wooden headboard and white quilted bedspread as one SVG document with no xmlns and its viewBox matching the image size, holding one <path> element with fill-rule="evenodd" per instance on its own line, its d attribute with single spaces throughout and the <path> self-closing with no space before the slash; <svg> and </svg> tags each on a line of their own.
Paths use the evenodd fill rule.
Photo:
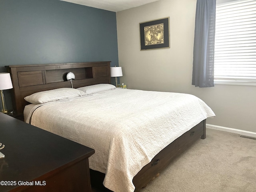
<svg viewBox="0 0 256 192">
<path fill-rule="evenodd" d="M 215 116 L 189 94 L 115 88 L 110 62 L 6 67 L 16 112 L 22 114 L 26 106 L 25 121 L 94 148 L 89 163 L 98 174 L 91 180 L 103 175 L 104 186 L 115 192 L 139 191 L 194 141 L 206 138 L 206 118 Z M 70 88 L 68 72 L 76 75 L 72 91 L 81 91 L 79 96 L 34 105 L 24 100 Z M 88 92 L 95 86 L 104 89 Z"/>
</svg>

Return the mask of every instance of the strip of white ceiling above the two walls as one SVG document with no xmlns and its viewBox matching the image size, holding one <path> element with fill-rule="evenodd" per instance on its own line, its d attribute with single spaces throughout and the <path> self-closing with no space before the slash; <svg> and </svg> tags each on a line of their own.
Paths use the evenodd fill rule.
<svg viewBox="0 0 256 192">
<path fill-rule="evenodd" d="M 61 0 L 98 9 L 118 12 L 158 0 Z"/>
</svg>

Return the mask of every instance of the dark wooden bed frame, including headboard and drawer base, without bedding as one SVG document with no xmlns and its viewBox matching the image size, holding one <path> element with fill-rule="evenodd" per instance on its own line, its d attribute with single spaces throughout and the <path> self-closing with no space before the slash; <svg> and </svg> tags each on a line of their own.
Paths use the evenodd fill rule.
<svg viewBox="0 0 256 192">
<path fill-rule="evenodd" d="M 23 114 L 24 107 L 29 104 L 24 97 L 44 90 L 71 87 L 66 80 L 66 74 L 73 72 L 76 76 L 73 87 L 78 88 L 100 83 L 111 83 L 110 61 L 104 62 L 81 62 L 60 64 L 35 64 L 35 65 L 12 65 L 5 66 L 11 74 L 13 92 L 12 104 L 14 112 Z M 133 178 L 135 192 L 161 172 L 170 162 L 186 148 L 191 146 L 198 138 L 206 138 L 206 120 L 184 133 L 160 151 L 152 161 L 144 166 Z M 104 174 L 91 172 L 92 185 L 102 183 Z"/>
</svg>

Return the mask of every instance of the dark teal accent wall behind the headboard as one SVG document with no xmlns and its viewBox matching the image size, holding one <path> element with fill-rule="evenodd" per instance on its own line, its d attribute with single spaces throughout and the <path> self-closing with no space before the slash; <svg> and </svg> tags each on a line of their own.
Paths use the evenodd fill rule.
<svg viewBox="0 0 256 192">
<path fill-rule="evenodd" d="M 6 65 L 91 61 L 118 66 L 116 12 L 60 0 L 0 0 L 0 72 Z M 10 91 L 4 94 L 11 109 Z"/>
</svg>

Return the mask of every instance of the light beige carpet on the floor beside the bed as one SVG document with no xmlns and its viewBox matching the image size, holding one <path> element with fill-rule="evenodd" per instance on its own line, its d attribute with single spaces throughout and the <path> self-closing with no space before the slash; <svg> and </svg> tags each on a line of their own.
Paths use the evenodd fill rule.
<svg viewBox="0 0 256 192">
<path fill-rule="evenodd" d="M 256 140 L 207 129 L 140 192 L 256 192 Z"/>
</svg>

